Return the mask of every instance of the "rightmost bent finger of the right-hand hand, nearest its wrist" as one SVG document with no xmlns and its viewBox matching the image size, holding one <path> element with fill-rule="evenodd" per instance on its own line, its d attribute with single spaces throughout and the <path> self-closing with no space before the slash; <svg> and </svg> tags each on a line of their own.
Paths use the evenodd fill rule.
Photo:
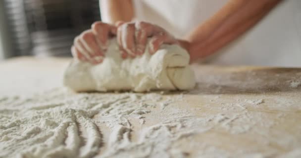
<svg viewBox="0 0 301 158">
<path fill-rule="evenodd" d="M 151 54 L 154 54 L 163 43 L 164 44 L 176 44 L 177 40 L 175 40 L 172 36 L 169 36 L 167 34 L 155 35 L 150 40 L 149 52 Z"/>
</svg>

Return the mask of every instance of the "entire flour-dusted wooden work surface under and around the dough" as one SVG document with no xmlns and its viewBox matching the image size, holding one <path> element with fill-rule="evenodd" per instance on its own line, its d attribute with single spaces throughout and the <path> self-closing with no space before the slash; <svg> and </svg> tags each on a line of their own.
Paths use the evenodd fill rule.
<svg viewBox="0 0 301 158">
<path fill-rule="evenodd" d="M 1 77 L 0 157 L 301 157 L 300 69 L 196 66 L 192 91 L 76 94 L 51 61 L 65 66 L 14 61 L 20 71 Z M 18 91 L 21 81 L 32 88 Z"/>
</svg>

